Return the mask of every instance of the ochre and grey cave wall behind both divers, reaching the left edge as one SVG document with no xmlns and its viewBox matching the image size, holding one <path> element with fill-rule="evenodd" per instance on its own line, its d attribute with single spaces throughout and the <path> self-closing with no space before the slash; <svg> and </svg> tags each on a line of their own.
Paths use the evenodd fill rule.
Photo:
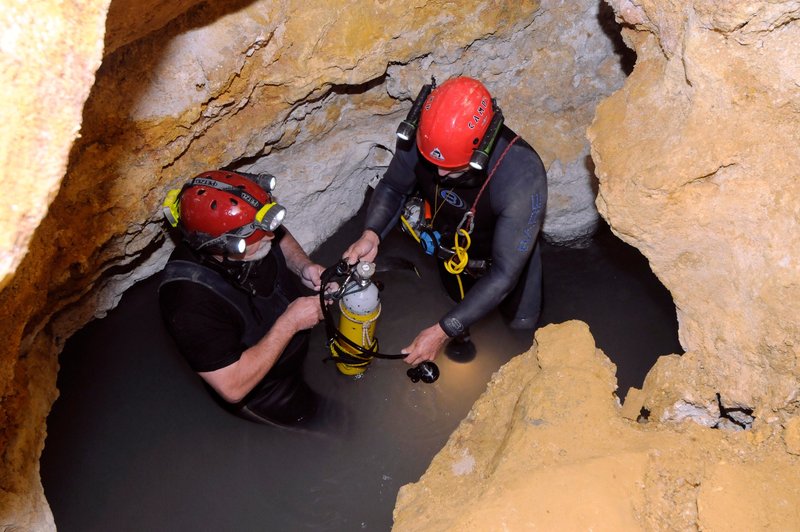
<svg viewBox="0 0 800 532">
<path fill-rule="evenodd" d="M 419 87 L 465 74 L 542 154 L 548 237 L 594 231 L 584 130 L 624 80 L 598 0 L 9 4 L 6 27 L 24 39 L 2 73 L 17 113 L 0 201 L 18 202 L 0 220 L 4 526 L 52 526 L 38 457 L 57 354 L 162 267 L 160 203 L 181 180 L 275 173 L 287 226 L 313 249 L 388 164 Z"/>
</svg>

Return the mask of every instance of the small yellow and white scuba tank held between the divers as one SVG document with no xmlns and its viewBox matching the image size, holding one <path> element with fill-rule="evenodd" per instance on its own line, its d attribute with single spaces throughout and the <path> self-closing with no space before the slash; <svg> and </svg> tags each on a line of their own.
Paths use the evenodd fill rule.
<svg viewBox="0 0 800 532">
<path fill-rule="evenodd" d="M 342 298 L 339 300 L 339 333 L 363 348 L 358 350 L 347 342 L 334 340 L 336 348 L 351 355 L 346 363 L 336 362 L 337 369 L 345 375 L 364 373 L 372 362 L 372 356 L 364 351 L 377 351 L 375 322 L 381 313 L 381 302 L 378 287 L 371 281 L 374 273 L 374 263 L 359 262 L 354 268 L 353 276 L 343 287 Z M 331 351 L 334 353 L 334 360 L 341 359 L 333 345 Z"/>
</svg>

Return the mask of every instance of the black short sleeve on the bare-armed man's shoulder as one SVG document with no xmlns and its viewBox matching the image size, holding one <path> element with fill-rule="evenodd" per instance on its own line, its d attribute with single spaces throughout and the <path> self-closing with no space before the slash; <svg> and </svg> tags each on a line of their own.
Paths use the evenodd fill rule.
<svg viewBox="0 0 800 532">
<path fill-rule="evenodd" d="M 224 368 L 247 348 L 240 314 L 210 289 L 173 281 L 161 288 L 159 302 L 164 324 L 192 370 Z"/>
</svg>

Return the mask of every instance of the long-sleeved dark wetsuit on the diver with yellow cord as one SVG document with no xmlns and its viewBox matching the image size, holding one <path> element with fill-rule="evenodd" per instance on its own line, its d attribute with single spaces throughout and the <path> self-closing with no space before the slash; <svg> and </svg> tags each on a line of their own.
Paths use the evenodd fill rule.
<svg viewBox="0 0 800 532">
<path fill-rule="evenodd" d="M 452 248 L 455 230 L 497 165 L 476 206 L 468 249 L 470 259 L 486 260 L 489 267 L 472 272 L 472 276 L 461 274 L 468 292 L 439 321 L 448 336 L 464 333 L 501 303 L 512 324 L 516 321 L 533 327 L 538 321 L 538 236 L 547 203 L 547 175 L 539 155 L 521 138 L 506 150 L 516 137 L 503 126 L 486 170 L 470 170 L 450 180 L 438 176 L 437 168 L 419 155 L 413 142 L 398 142 L 389 168 L 370 200 L 365 227 L 383 238 L 399 219 L 408 195 L 419 191 L 431 206 L 433 229 L 441 233 L 442 245 Z M 444 276 L 446 286 L 448 279 L 455 277 Z M 448 292 L 454 295 L 452 286 Z"/>
</svg>

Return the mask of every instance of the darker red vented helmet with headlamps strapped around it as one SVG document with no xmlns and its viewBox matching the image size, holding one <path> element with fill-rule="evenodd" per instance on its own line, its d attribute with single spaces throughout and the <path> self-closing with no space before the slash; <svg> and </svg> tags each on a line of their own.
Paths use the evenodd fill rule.
<svg viewBox="0 0 800 532">
<path fill-rule="evenodd" d="M 286 214 L 275 203 L 272 186 L 274 181 L 256 183 L 234 172 L 203 172 L 167 195 L 164 214 L 173 226 L 180 223 L 198 249 L 244 251 L 242 241 L 258 242 Z"/>
</svg>

